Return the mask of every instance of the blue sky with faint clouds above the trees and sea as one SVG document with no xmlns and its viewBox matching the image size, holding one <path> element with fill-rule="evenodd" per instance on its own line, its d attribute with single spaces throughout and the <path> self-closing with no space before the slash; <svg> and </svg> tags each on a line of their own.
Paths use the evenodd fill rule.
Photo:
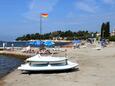
<svg viewBox="0 0 115 86">
<path fill-rule="evenodd" d="M 0 0 L 0 40 L 57 30 L 100 32 L 103 22 L 115 29 L 115 0 Z"/>
</svg>

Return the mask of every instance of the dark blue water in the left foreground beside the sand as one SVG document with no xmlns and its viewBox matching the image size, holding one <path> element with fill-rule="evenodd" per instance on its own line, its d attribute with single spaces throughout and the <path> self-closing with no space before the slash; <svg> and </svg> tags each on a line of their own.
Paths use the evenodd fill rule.
<svg viewBox="0 0 115 86">
<path fill-rule="evenodd" d="M 0 78 L 16 69 L 22 63 L 21 59 L 0 55 Z"/>
</svg>

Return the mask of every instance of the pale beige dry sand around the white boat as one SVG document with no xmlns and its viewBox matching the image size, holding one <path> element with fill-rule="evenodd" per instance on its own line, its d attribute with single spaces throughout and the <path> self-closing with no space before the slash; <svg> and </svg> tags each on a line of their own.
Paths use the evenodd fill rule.
<svg viewBox="0 0 115 86">
<path fill-rule="evenodd" d="M 67 54 L 79 63 L 79 71 L 28 75 L 16 69 L 4 78 L 3 86 L 115 86 L 115 46 L 68 49 Z"/>
</svg>

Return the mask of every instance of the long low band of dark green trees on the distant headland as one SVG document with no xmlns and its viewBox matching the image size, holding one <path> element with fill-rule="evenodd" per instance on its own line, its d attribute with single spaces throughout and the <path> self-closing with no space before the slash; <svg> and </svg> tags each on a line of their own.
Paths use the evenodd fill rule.
<svg viewBox="0 0 115 86">
<path fill-rule="evenodd" d="M 16 41 L 27 41 L 27 40 L 46 40 L 46 39 L 65 39 L 65 40 L 73 40 L 73 39 L 87 39 L 89 37 L 95 37 L 97 32 L 88 32 L 88 31 L 78 31 L 72 32 L 68 31 L 54 31 L 50 33 L 40 34 L 26 34 L 21 37 L 17 37 Z"/>
</svg>

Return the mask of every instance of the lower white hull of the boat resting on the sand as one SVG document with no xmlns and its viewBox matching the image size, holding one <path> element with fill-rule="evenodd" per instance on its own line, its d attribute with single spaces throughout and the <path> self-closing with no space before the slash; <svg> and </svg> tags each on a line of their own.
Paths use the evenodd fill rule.
<svg viewBox="0 0 115 86">
<path fill-rule="evenodd" d="M 77 63 L 72 63 L 70 61 L 68 61 L 68 64 L 66 65 L 47 65 L 47 66 L 30 66 L 29 64 L 24 64 L 21 65 L 20 67 L 18 67 L 19 70 L 22 71 L 54 71 L 54 70 L 68 70 L 68 69 L 74 69 L 74 68 L 78 68 L 78 64 Z"/>
</svg>

